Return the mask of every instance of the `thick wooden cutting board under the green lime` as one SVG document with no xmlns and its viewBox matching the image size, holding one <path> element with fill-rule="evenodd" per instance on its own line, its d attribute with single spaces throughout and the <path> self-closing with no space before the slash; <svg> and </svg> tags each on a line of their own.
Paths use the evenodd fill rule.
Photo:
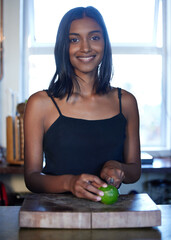
<svg viewBox="0 0 171 240">
<path fill-rule="evenodd" d="M 20 209 L 19 225 L 57 229 L 152 227 L 161 225 L 161 212 L 147 194 L 120 195 L 112 205 L 72 194 L 30 194 Z"/>
</svg>

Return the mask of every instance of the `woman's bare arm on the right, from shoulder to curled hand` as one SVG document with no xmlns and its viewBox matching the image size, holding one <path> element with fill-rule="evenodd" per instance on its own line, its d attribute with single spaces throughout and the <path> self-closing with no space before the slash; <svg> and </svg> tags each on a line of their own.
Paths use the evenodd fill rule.
<svg viewBox="0 0 171 240">
<path fill-rule="evenodd" d="M 122 91 L 122 111 L 127 119 L 124 163 L 108 161 L 101 171 L 101 178 L 107 182 L 113 178 L 116 187 L 136 182 L 141 175 L 138 107 L 135 97 L 126 91 Z"/>
</svg>

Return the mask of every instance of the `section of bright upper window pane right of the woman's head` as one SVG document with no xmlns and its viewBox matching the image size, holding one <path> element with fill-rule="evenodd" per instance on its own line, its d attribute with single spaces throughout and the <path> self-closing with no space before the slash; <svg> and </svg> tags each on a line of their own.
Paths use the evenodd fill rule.
<svg viewBox="0 0 171 240">
<path fill-rule="evenodd" d="M 109 5 L 102 1 L 98 9 L 112 43 L 152 43 L 154 7 L 154 0 L 114 0 Z"/>
</svg>

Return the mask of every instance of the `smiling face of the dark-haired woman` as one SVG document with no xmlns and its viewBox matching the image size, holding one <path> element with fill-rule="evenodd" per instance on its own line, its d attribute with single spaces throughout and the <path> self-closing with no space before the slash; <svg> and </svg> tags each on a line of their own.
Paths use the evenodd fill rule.
<svg viewBox="0 0 171 240">
<path fill-rule="evenodd" d="M 69 56 L 75 74 L 96 73 L 104 54 L 104 37 L 99 24 L 84 17 L 71 23 Z"/>
</svg>

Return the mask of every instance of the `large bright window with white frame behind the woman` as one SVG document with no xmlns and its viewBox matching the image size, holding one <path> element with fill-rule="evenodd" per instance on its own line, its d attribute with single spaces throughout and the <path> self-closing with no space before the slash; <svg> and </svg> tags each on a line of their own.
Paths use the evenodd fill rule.
<svg viewBox="0 0 171 240">
<path fill-rule="evenodd" d="M 26 96 L 47 88 L 53 77 L 54 43 L 64 13 L 90 5 L 102 13 L 108 28 L 114 63 L 112 85 L 137 98 L 142 149 L 153 153 L 169 150 L 166 0 L 25 1 Z"/>
</svg>

